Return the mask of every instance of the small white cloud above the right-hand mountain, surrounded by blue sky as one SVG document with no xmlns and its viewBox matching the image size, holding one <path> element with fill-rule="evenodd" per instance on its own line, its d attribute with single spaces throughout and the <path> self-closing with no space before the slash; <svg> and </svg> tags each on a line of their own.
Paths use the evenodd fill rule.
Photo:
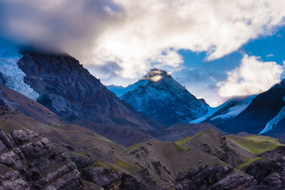
<svg viewBox="0 0 285 190">
<path fill-rule="evenodd" d="M 242 64 L 227 73 L 228 78 L 218 83 L 219 95 L 232 97 L 262 93 L 279 83 L 284 67 L 276 62 L 263 62 L 259 57 L 244 54 Z"/>
</svg>

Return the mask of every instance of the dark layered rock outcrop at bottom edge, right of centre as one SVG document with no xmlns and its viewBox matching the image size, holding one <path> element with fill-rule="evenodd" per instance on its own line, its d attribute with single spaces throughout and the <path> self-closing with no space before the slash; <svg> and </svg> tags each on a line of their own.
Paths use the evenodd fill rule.
<svg viewBox="0 0 285 190">
<path fill-rule="evenodd" d="M 206 166 L 178 175 L 175 189 L 257 189 L 257 181 L 229 167 Z"/>
</svg>

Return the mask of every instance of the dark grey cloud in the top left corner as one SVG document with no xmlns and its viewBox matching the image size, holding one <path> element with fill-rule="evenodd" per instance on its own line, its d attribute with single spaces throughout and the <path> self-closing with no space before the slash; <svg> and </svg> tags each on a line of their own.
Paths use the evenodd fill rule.
<svg viewBox="0 0 285 190">
<path fill-rule="evenodd" d="M 0 37 L 24 45 L 86 51 L 118 21 L 120 7 L 110 0 L 1 0 Z M 89 46 L 88 46 L 89 45 Z"/>
</svg>

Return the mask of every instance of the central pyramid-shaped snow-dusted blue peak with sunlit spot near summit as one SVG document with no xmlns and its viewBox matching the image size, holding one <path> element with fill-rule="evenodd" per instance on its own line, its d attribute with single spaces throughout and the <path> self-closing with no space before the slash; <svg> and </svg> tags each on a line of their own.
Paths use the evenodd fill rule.
<svg viewBox="0 0 285 190">
<path fill-rule="evenodd" d="M 154 117 L 163 125 L 189 122 L 207 112 L 207 105 L 165 70 L 152 69 L 126 88 L 109 88 L 135 110 Z"/>
</svg>

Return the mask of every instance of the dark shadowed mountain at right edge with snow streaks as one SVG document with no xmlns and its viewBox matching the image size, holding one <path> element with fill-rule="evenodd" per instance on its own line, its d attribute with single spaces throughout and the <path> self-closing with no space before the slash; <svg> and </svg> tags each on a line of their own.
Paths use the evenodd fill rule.
<svg viewBox="0 0 285 190">
<path fill-rule="evenodd" d="M 285 81 L 282 80 L 259 95 L 234 97 L 192 122 L 209 122 L 224 132 L 264 134 L 284 140 L 284 97 Z"/>
</svg>

